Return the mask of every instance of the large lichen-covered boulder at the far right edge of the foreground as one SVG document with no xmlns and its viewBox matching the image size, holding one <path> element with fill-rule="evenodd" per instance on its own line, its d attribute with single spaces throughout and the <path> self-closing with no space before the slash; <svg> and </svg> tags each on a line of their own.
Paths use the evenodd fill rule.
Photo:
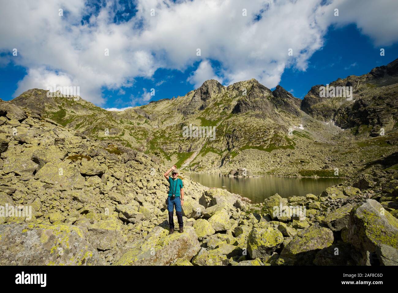
<svg viewBox="0 0 398 293">
<path fill-rule="evenodd" d="M 398 249 L 398 219 L 374 199 L 367 199 L 351 211 L 347 240 L 362 252 L 375 252 L 380 244 Z"/>
</svg>

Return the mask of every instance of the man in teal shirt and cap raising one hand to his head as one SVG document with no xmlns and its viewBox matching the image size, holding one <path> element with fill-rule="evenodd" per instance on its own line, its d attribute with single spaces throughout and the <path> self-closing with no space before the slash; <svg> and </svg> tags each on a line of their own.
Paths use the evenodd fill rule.
<svg viewBox="0 0 398 293">
<path fill-rule="evenodd" d="M 172 177 L 169 177 L 170 171 L 172 172 Z M 176 214 L 178 218 L 178 226 L 179 232 L 184 232 L 183 229 L 183 220 L 182 220 L 182 210 L 181 206 L 184 205 L 184 189 L 182 180 L 178 178 L 178 170 L 177 166 L 174 165 L 163 176 L 169 181 L 169 194 L 168 194 L 168 203 L 167 203 L 167 210 L 169 212 L 169 225 L 170 225 L 170 233 L 174 233 L 174 206 L 176 207 Z"/>
</svg>

